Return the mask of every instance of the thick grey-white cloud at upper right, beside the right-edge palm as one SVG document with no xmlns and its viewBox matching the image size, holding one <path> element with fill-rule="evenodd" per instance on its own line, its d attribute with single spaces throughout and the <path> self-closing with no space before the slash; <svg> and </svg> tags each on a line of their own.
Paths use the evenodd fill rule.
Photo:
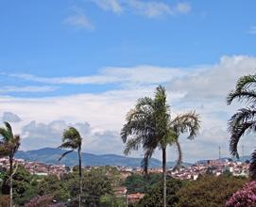
<svg viewBox="0 0 256 207">
<path fill-rule="evenodd" d="M 184 91 L 188 100 L 218 98 L 225 102 L 237 79 L 256 71 L 256 58 L 252 56 L 222 56 L 220 62 L 205 70 L 189 72 L 169 83 L 167 88 Z"/>
</svg>

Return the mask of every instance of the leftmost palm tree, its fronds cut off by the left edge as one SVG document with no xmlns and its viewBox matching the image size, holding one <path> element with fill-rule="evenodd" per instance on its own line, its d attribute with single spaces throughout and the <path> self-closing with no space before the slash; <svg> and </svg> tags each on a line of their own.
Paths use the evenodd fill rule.
<svg viewBox="0 0 256 207">
<path fill-rule="evenodd" d="M 13 135 L 9 122 L 4 122 L 5 127 L 0 127 L 2 136 L 0 143 L 0 156 L 9 156 L 9 206 L 12 207 L 12 177 L 13 177 L 13 157 L 21 144 L 20 135 Z"/>
</svg>

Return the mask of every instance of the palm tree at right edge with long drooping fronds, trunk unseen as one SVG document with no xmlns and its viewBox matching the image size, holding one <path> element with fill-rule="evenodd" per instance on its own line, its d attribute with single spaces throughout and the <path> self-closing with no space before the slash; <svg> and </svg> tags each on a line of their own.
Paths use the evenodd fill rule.
<svg viewBox="0 0 256 207">
<path fill-rule="evenodd" d="M 246 132 L 256 132 L 256 74 L 238 79 L 235 89 L 228 94 L 227 103 L 230 104 L 234 100 L 246 103 L 246 107 L 239 109 L 228 123 L 230 153 L 239 158 L 237 146 L 241 136 Z M 251 178 L 256 180 L 256 150 L 252 153 L 249 172 Z"/>
</svg>

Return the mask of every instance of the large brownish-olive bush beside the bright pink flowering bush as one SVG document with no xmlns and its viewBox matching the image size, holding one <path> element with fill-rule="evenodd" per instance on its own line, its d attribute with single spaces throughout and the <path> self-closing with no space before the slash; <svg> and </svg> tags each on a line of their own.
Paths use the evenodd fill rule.
<svg viewBox="0 0 256 207">
<path fill-rule="evenodd" d="M 227 199 L 241 189 L 247 179 L 228 176 L 204 176 L 183 185 L 176 196 L 176 207 L 220 207 Z"/>
</svg>

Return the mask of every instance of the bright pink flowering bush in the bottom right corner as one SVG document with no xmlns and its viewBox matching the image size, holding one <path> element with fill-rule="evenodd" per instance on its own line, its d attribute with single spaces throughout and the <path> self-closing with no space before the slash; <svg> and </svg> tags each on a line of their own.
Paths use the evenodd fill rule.
<svg viewBox="0 0 256 207">
<path fill-rule="evenodd" d="M 256 206 L 256 182 L 247 183 L 227 201 L 226 207 Z"/>
</svg>

